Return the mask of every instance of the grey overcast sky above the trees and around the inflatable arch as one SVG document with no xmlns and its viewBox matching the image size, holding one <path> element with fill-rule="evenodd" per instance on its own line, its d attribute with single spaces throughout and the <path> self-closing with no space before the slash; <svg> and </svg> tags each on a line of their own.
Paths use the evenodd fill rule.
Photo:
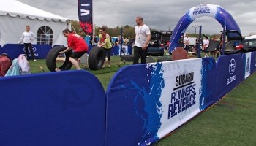
<svg viewBox="0 0 256 146">
<path fill-rule="evenodd" d="M 39 9 L 78 20 L 76 0 L 18 0 Z M 216 4 L 233 16 L 243 36 L 256 33 L 256 1 L 253 0 L 94 0 L 94 24 L 96 26 L 135 26 L 135 17 L 140 15 L 144 22 L 157 30 L 173 31 L 178 20 L 191 8 L 200 4 Z M 195 33 L 193 25 L 203 26 L 203 34 L 219 34 L 222 26 L 214 18 L 197 18 L 186 33 Z M 197 33 L 198 33 L 197 28 Z"/>
</svg>

